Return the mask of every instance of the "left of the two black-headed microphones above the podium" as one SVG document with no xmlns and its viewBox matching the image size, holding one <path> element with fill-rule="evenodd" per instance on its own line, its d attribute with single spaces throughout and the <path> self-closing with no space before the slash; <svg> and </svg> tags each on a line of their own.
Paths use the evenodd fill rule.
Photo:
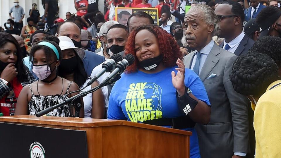
<svg viewBox="0 0 281 158">
<path fill-rule="evenodd" d="M 113 56 L 111 56 L 111 59 L 105 61 L 102 64 L 102 70 L 99 71 L 93 78 L 91 78 L 90 81 L 87 83 L 87 85 L 85 87 L 88 87 L 89 85 L 94 83 L 95 80 L 100 78 L 100 76 L 102 76 L 105 72 L 110 72 L 113 69 L 115 69 L 115 64 L 117 62 L 120 62 L 121 59 L 122 59 L 122 56 L 120 54 L 114 54 Z"/>
</svg>

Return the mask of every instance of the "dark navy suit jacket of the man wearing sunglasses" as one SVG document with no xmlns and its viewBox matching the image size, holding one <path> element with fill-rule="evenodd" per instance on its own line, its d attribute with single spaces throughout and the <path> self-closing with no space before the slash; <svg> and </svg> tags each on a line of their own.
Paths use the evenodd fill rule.
<svg viewBox="0 0 281 158">
<path fill-rule="evenodd" d="M 252 40 L 247 35 L 245 35 L 243 37 L 243 39 L 241 40 L 241 42 L 240 42 L 239 46 L 237 47 L 237 49 L 234 51 L 234 54 L 237 55 L 237 56 L 247 54 L 249 49 L 253 46 L 254 43 L 255 43 L 254 40 Z M 223 45 L 224 45 L 224 43 L 222 42 L 220 44 L 220 47 L 222 48 Z"/>
</svg>

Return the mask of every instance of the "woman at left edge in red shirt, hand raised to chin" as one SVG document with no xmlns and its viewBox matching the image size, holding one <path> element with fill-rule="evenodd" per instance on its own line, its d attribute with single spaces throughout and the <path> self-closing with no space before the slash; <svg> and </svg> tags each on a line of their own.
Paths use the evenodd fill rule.
<svg viewBox="0 0 281 158">
<path fill-rule="evenodd" d="M 0 114 L 4 116 L 14 115 L 23 86 L 35 81 L 22 60 L 17 40 L 11 34 L 0 32 Z"/>
</svg>

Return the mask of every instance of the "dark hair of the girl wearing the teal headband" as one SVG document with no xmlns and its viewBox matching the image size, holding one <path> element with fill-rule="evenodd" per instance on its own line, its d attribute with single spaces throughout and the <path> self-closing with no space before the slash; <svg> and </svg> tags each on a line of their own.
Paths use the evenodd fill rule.
<svg viewBox="0 0 281 158">
<path fill-rule="evenodd" d="M 55 37 L 53 35 L 52 36 L 46 36 L 43 41 L 49 42 L 49 43 L 53 44 L 56 47 L 56 49 L 59 51 L 59 60 L 61 60 L 61 58 L 62 58 L 61 57 L 61 53 L 62 52 L 61 52 L 61 48 L 59 47 L 59 39 L 58 39 L 58 37 Z M 53 49 L 51 49 L 50 47 L 47 47 L 45 45 L 38 45 L 37 44 L 34 47 L 32 47 L 31 50 L 30 50 L 30 55 L 29 55 L 30 56 L 30 58 L 29 58 L 30 62 L 33 61 L 34 53 L 37 50 L 43 50 L 45 52 L 45 54 L 46 54 L 46 61 L 48 63 L 51 63 L 51 61 L 53 61 L 53 60 L 57 60 L 56 54 L 53 51 Z"/>
</svg>

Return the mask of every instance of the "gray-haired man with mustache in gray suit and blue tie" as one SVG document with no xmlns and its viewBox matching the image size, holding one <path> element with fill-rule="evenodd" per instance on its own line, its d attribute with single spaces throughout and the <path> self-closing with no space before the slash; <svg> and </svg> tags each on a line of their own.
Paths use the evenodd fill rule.
<svg viewBox="0 0 281 158">
<path fill-rule="evenodd" d="M 184 17 L 182 40 L 195 51 L 184 57 L 184 64 L 199 74 L 212 106 L 209 124 L 196 125 L 201 157 L 241 158 L 249 151 L 248 100 L 229 80 L 237 56 L 212 40 L 218 22 L 211 7 L 191 7 Z"/>
</svg>

